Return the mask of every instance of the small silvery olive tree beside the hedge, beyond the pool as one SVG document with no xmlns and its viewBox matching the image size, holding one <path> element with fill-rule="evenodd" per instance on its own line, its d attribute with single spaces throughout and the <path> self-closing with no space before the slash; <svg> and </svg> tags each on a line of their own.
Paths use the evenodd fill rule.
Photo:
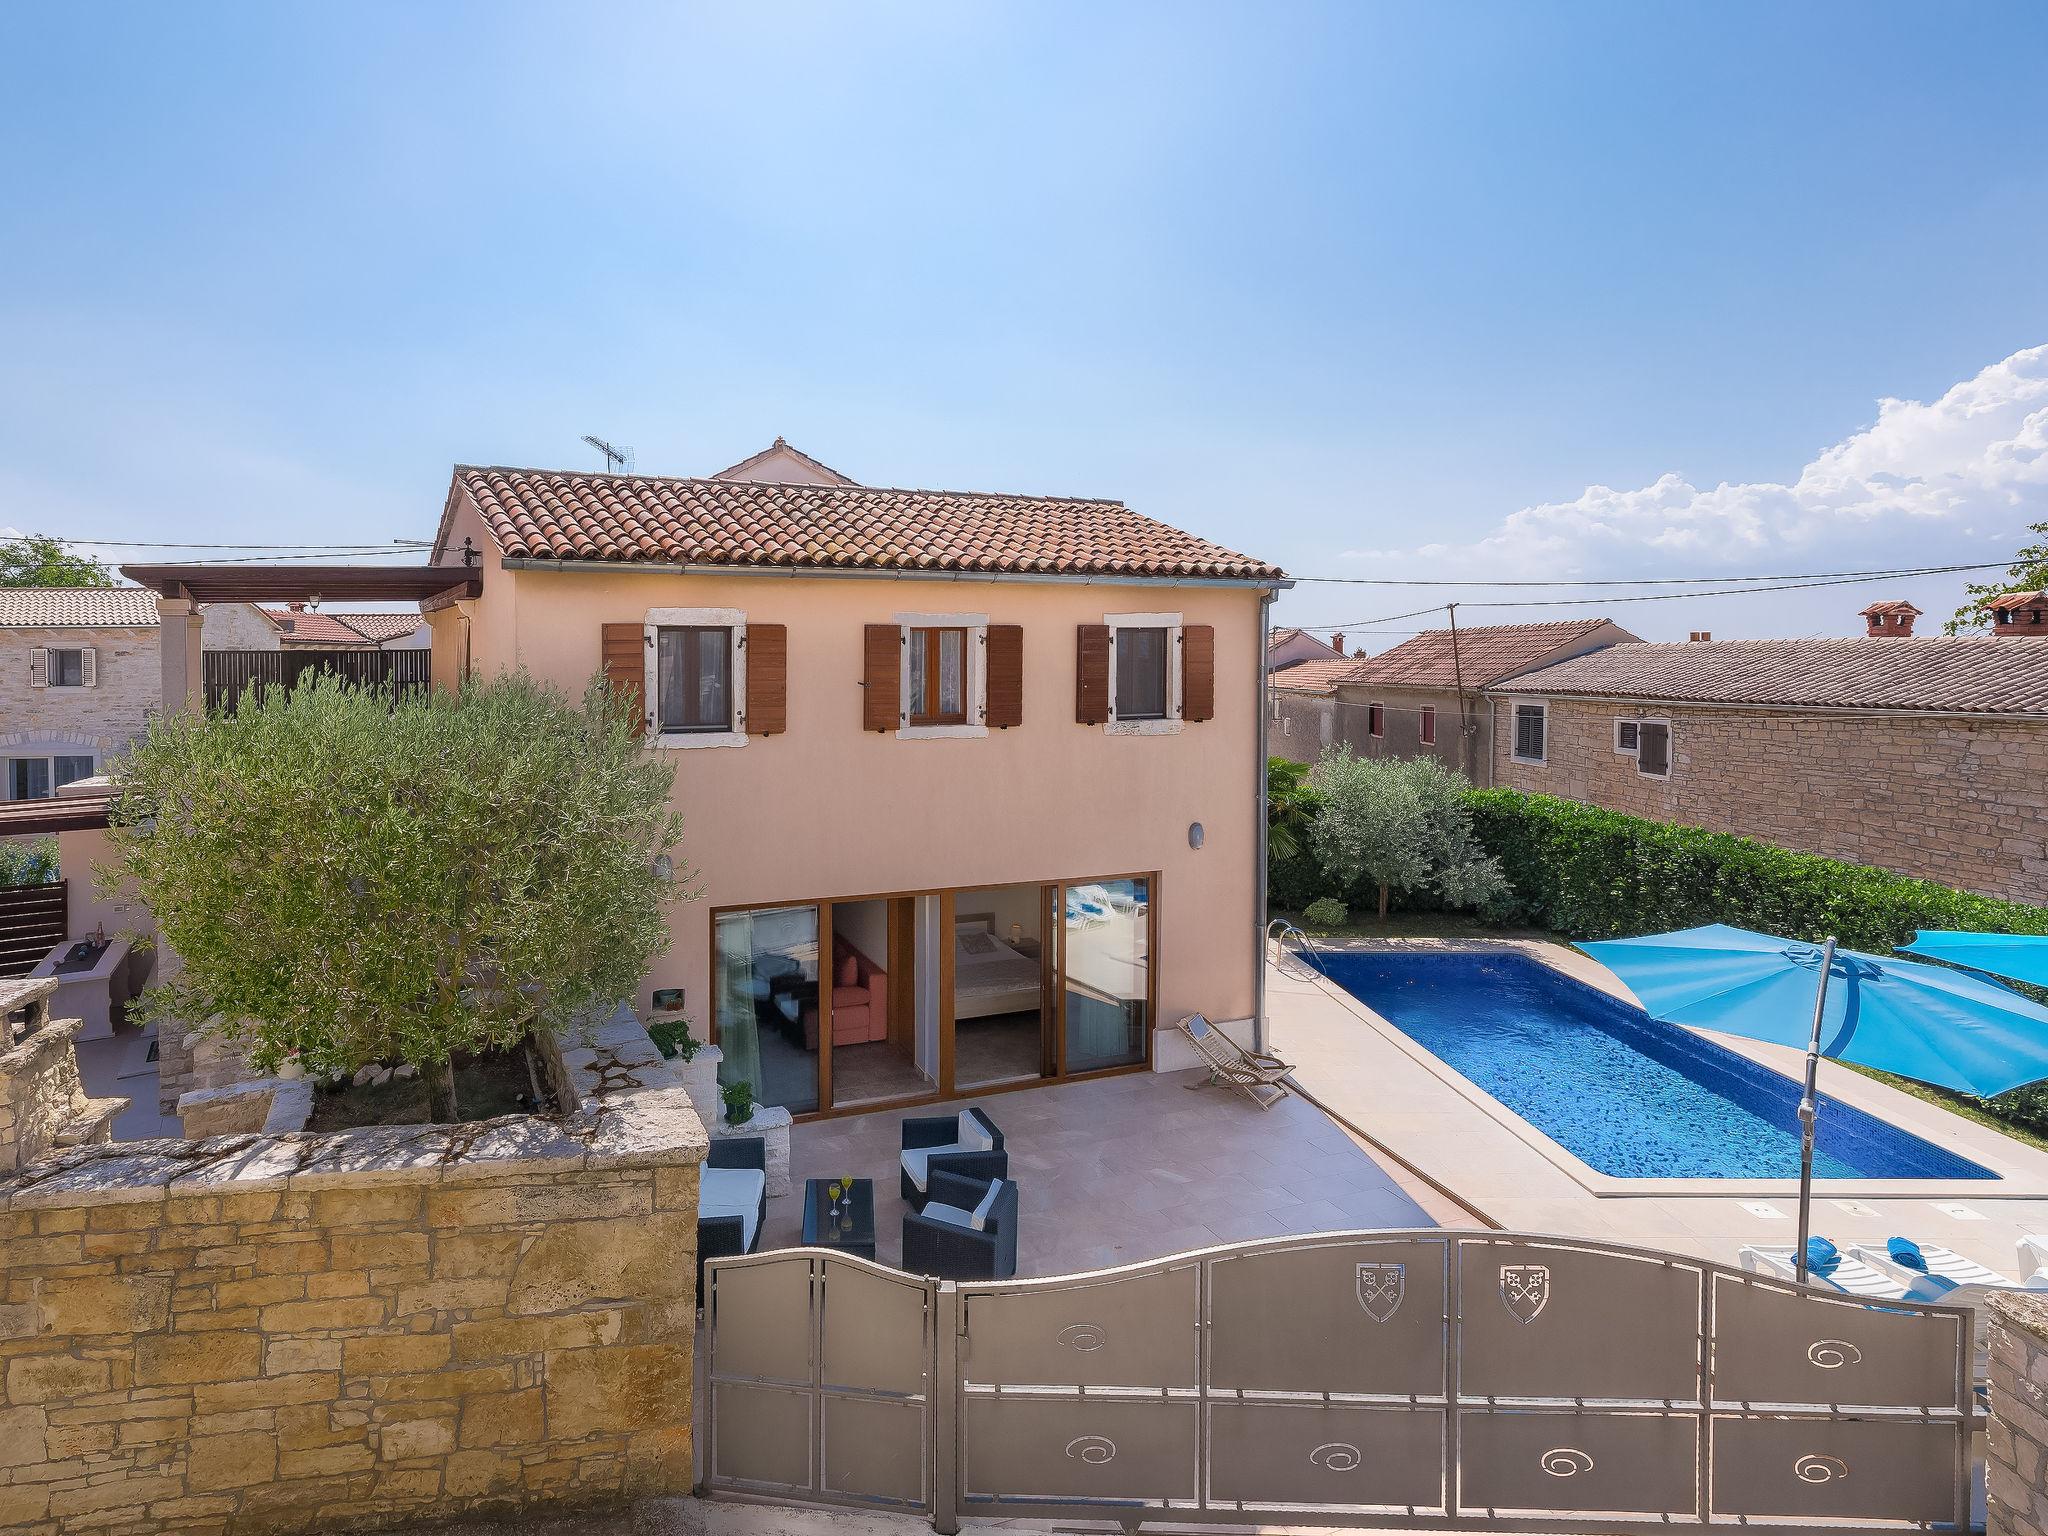
<svg viewBox="0 0 2048 1536">
<path fill-rule="evenodd" d="M 1430 891 L 1450 907 L 1475 907 L 1507 889 L 1499 860 L 1473 834 L 1464 778 L 1436 758 L 1358 758 L 1335 748 L 1309 782 L 1317 793 L 1309 850 L 1335 895 L 1374 887 L 1384 918 L 1397 889 Z"/>
</svg>

